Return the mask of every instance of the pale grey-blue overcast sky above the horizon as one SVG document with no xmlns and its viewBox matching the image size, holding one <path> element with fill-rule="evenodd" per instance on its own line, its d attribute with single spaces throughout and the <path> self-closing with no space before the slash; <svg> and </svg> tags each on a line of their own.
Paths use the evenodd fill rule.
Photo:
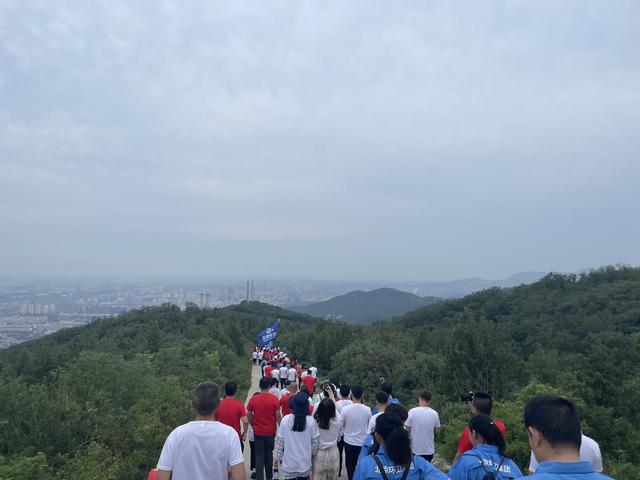
<svg viewBox="0 0 640 480">
<path fill-rule="evenodd" d="M 0 0 L 0 275 L 640 264 L 640 2 Z"/>
</svg>

